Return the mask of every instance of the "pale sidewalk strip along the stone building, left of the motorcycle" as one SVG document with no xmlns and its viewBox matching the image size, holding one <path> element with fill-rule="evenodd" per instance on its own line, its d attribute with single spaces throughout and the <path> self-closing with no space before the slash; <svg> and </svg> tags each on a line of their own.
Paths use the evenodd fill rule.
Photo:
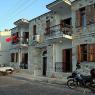
<svg viewBox="0 0 95 95">
<path fill-rule="evenodd" d="M 38 82 L 45 82 L 45 83 L 52 83 L 52 84 L 60 84 L 65 85 L 67 80 L 58 79 L 58 78 L 48 78 L 48 77 L 41 77 L 41 76 L 33 76 L 27 73 L 15 73 L 13 74 L 16 77 L 26 78 L 28 80 L 38 81 Z"/>
</svg>

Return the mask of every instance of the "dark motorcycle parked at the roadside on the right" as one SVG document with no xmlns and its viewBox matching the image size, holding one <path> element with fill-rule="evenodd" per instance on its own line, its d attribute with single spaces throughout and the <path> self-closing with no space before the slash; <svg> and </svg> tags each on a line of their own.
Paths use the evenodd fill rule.
<svg viewBox="0 0 95 95">
<path fill-rule="evenodd" d="M 80 66 L 78 66 L 77 69 L 80 69 Z M 82 75 L 80 72 L 77 71 L 77 69 L 72 72 L 72 74 L 70 76 L 67 77 L 68 81 L 67 81 L 67 86 L 69 88 L 75 88 L 78 86 L 82 86 L 82 87 L 91 87 L 93 84 L 95 84 L 94 82 L 94 74 L 92 75 L 92 72 L 94 72 L 95 69 L 91 70 L 91 75 L 89 76 L 84 76 Z M 92 77 L 93 76 L 93 77 Z"/>
</svg>

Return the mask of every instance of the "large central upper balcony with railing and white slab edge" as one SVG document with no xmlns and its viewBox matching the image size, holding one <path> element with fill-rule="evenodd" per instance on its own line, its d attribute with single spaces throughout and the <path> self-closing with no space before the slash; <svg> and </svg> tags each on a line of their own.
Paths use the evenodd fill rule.
<svg viewBox="0 0 95 95">
<path fill-rule="evenodd" d="M 72 39 L 72 26 L 67 24 L 64 26 L 61 24 L 51 26 L 46 28 L 44 35 L 46 40 L 60 38 Z"/>
</svg>

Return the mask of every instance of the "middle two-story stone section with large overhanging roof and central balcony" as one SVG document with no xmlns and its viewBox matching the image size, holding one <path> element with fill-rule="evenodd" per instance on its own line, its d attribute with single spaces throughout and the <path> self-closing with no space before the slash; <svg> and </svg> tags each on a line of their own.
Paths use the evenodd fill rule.
<svg viewBox="0 0 95 95">
<path fill-rule="evenodd" d="M 71 3 L 56 0 L 50 11 L 30 20 L 29 70 L 34 75 L 62 77 L 72 72 Z"/>
</svg>

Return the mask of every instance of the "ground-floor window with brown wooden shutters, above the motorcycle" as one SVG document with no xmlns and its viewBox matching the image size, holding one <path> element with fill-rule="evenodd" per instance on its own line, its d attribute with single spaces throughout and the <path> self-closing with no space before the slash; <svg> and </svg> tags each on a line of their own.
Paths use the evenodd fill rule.
<svg viewBox="0 0 95 95">
<path fill-rule="evenodd" d="M 95 62 L 95 44 L 78 45 L 78 62 Z"/>
</svg>

